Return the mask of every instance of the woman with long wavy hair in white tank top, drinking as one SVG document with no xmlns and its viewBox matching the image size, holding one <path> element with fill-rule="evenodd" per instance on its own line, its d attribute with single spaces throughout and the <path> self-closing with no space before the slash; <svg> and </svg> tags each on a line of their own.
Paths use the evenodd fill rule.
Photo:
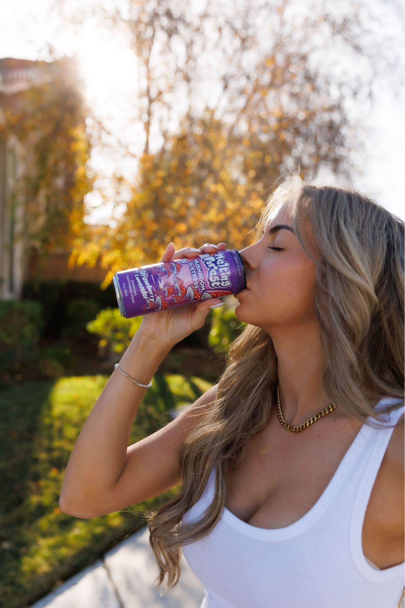
<svg viewBox="0 0 405 608">
<path fill-rule="evenodd" d="M 248 325 L 219 382 L 127 451 L 130 389 L 132 404 L 143 389 L 124 386 L 119 371 L 114 384 L 113 374 L 70 457 L 61 508 L 94 517 L 181 481 L 148 514 L 159 585 L 166 575 L 166 589 L 177 584 L 183 550 L 205 587 L 202 607 L 395 608 L 404 586 L 404 223 L 349 188 L 295 177 L 267 201 L 257 230 L 240 251 L 248 289 L 235 314 Z M 185 255 L 193 251 L 171 244 L 161 261 Z M 148 382 L 171 345 L 202 326 L 209 303 L 145 316 L 120 367 Z M 118 422 L 112 400 L 124 404 Z"/>
</svg>

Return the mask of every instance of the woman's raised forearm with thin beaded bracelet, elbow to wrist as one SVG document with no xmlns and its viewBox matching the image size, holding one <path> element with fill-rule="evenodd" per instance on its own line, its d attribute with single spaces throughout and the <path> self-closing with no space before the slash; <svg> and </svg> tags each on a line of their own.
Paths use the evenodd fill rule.
<svg viewBox="0 0 405 608">
<path fill-rule="evenodd" d="M 136 333 L 120 368 L 148 384 L 170 348 Z M 86 513 L 115 488 L 145 391 L 114 370 L 91 410 L 67 463 L 60 495 L 64 513 Z M 82 515 L 83 516 L 83 515 Z"/>
</svg>

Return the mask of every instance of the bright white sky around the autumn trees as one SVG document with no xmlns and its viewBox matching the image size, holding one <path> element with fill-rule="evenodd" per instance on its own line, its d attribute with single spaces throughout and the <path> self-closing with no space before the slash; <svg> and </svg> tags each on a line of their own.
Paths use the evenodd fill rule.
<svg viewBox="0 0 405 608">
<path fill-rule="evenodd" d="M 80 10 L 79 0 L 67 1 Z M 80 35 L 75 35 L 68 25 L 61 29 L 60 18 L 50 16 L 49 13 L 54 2 L 55 0 L 13 0 L 1 3 L 0 57 L 32 60 L 46 58 L 48 42 L 58 55 L 76 54 L 89 102 L 103 117 L 114 123 L 117 132 L 123 131 L 126 139 L 132 142 L 134 152 L 138 151 L 137 142 L 140 142 L 141 133 L 136 126 L 128 130 L 131 98 L 133 100 L 137 90 L 137 64 L 126 46 L 124 35 L 103 32 L 90 22 L 84 28 L 81 26 Z M 87 5 L 90 3 L 112 5 L 114 2 L 87 0 Z M 398 44 L 401 44 L 399 39 Z M 395 96 L 387 86 L 376 83 L 375 107 L 369 114 L 362 116 L 364 153 L 358 151 L 353 154 L 355 171 L 352 185 L 404 219 L 403 91 L 397 93 Z M 358 110 L 361 112 L 361 108 Z M 108 173 L 102 155 L 98 157 L 95 153 L 93 162 L 96 167 L 103 167 Z M 133 171 L 133 162 L 129 162 L 128 167 L 123 167 L 123 171 L 125 169 Z M 323 179 L 333 181 L 330 176 Z M 319 181 L 322 181 L 321 177 Z M 100 201 L 96 196 L 90 196 L 86 202 L 89 206 L 89 221 L 101 223 L 111 216 L 112 207 L 99 206 Z"/>
</svg>

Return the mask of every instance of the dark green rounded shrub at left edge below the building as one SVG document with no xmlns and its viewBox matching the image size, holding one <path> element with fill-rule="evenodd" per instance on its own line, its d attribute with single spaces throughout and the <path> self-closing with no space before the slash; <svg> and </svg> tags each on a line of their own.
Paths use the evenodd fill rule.
<svg viewBox="0 0 405 608">
<path fill-rule="evenodd" d="M 42 327 L 39 302 L 0 300 L 0 351 L 11 355 L 9 362 L 35 350 Z"/>
</svg>

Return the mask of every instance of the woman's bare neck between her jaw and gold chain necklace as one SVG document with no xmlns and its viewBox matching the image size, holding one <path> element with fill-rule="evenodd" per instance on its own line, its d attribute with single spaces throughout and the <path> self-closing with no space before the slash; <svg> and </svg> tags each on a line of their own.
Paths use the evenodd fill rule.
<svg viewBox="0 0 405 608">
<path fill-rule="evenodd" d="M 298 426 L 327 407 L 322 386 L 325 355 L 315 319 L 269 330 L 277 354 L 279 394 L 285 420 Z"/>
</svg>

